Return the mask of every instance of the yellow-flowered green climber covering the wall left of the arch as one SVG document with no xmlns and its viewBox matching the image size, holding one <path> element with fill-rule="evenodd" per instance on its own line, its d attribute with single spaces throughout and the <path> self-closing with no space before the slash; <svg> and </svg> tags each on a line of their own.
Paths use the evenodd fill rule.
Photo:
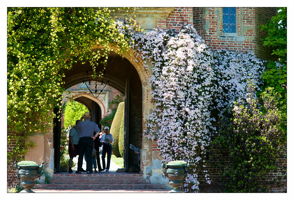
<svg viewBox="0 0 294 200">
<path fill-rule="evenodd" d="M 135 20 L 129 20 L 135 25 Z M 106 64 L 111 46 L 117 54 L 130 49 L 108 8 L 7 8 L 7 162 L 23 158 L 34 143 L 30 135 L 53 127 L 60 108 L 64 70 L 74 63 Z M 99 45 L 103 52 L 92 52 Z"/>
</svg>

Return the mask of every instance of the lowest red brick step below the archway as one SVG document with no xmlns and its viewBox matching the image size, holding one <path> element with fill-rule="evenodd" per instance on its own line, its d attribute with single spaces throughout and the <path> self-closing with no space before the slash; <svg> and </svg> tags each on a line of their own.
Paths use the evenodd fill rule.
<svg viewBox="0 0 294 200">
<path fill-rule="evenodd" d="M 164 184 L 37 184 L 34 189 L 165 189 Z"/>
</svg>

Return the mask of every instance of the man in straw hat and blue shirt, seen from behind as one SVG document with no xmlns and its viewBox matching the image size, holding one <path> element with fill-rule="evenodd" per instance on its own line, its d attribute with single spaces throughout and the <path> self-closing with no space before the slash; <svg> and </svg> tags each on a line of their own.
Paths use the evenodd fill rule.
<svg viewBox="0 0 294 200">
<path fill-rule="evenodd" d="M 82 122 L 82 120 L 84 121 Z M 75 128 L 79 129 L 80 133 L 78 134 L 78 169 L 76 171 L 77 174 L 81 174 L 82 166 L 83 166 L 83 155 L 86 152 L 86 159 L 87 159 L 87 165 L 86 165 L 86 171 L 87 174 L 91 174 L 92 170 L 92 151 L 93 151 L 93 140 L 98 137 L 99 132 L 101 131 L 98 128 L 98 125 L 94 122 L 90 121 L 91 115 L 88 112 L 85 112 L 83 117 L 81 117 L 81 122 L 78 123 Z M 95 132 L 95 136 L 93 136 L 93 132 Z"/>
</svg>

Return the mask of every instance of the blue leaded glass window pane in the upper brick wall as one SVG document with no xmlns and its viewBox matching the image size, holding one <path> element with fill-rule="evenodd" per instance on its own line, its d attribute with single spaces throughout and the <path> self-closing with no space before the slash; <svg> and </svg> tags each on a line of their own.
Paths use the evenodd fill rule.
<svg viewBox="0 0 294 200">
<path fill-rule="evenodd" d="M 223 7 L 223 33 L 236 33 L 235 7 Z"/>
</svg>

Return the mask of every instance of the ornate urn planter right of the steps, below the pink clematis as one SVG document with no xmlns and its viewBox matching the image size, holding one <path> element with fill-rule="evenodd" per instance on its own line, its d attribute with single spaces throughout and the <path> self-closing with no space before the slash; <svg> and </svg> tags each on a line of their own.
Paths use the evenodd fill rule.
<svg viewBox="0 0 294 200">
<path fill-rule="evenodd" d="M 162 163 L 163 174 L 168 177 L 168 184 L 173 187 L 170 192 L 181 192 L 178 187 L 183 185 L 183 179 L 189 172 L 189 164 L 181 160 L 171 161 L 168 164 Z"/>
</svg>

